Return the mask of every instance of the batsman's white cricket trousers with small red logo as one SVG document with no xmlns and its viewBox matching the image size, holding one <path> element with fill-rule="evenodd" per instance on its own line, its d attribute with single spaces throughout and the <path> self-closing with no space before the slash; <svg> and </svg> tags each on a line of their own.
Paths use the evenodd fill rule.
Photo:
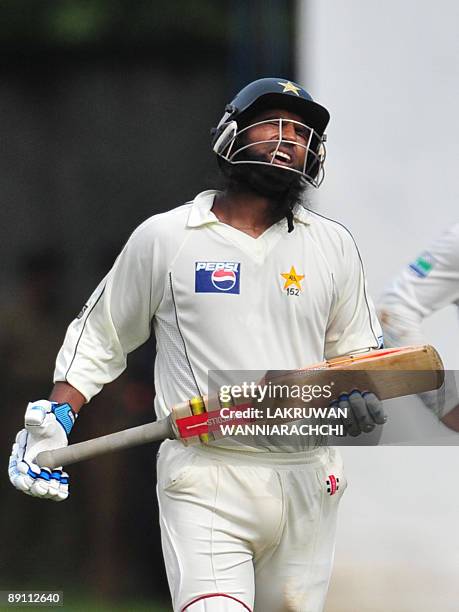
<svg viewBox="0 0 459 612">
<path fill-rule="evenodd" d="M 226 610 L 218 595 L 241 611 L 322 611 L 345 487 L 332 448 L 253 453 L 163 442 L 157 491 L 174 611 L 200 599 Z"/>
</svg>

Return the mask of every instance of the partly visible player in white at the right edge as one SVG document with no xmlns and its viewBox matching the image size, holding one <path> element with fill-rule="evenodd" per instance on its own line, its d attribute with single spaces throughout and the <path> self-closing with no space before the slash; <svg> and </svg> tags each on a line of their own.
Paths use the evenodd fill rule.
<svg viewBox="0 0 459 612">
<path fill-rule="evenodd" d="M 424 344 L 423 320 L 450 304 L 459 309 L 459 223 L 406 266 L 387 287 L 378 306 L 385 344 Z M 459 342 L 459 334 L 455 333 Z M 433 394 L 423 395 L 426 405 L 445 425 L 459 431 L 454 372 L 446 373 L 444 399 L 436 403 L 432 397 Z"/>
</svg>

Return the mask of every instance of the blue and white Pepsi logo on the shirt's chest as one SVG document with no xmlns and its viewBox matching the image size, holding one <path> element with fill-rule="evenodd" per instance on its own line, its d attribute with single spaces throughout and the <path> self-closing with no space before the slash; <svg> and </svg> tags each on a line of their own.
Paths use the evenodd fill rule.
<svg viewBox="0 0 459 612">
<path fill-rule="evenodd" d="M 241 264 L 235 261 L 197 261 L 195 263 L 196 293 L 237 293 Z"/>
</svg>

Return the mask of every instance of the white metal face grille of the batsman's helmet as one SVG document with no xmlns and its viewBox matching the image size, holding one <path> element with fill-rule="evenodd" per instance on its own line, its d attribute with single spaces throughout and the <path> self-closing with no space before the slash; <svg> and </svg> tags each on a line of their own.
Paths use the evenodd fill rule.
<svg viewBox="0 0 459 612">
<path fill-rule="evenodd" d="M 257 136 L 268 125 L 268 137 Z M 270 166 L 279 172 L 299 174 L 316 188 L 324 179 L 325 137 L 293 119 L 256 121 L 241 129 L 231 121 L 220 126 L 214 151 L 233 165 Z"/>
</svg>

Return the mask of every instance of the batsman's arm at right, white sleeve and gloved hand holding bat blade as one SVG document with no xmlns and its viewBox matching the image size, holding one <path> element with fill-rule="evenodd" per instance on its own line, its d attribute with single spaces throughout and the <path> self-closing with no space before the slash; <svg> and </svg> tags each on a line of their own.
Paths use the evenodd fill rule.
<svg viewBox="0 0 459 612">
<path fill-rule="evenodd" d="M 360 253 L 352 236 L 340 233 L 340 253 L 333 274 L 334 292 L 325 337 L 325 357 L 371 351 L 382 346 L 382 331 L 368 295 Z M 348 415 L 344 423 L 351 436 L 369 433 L 386 422 L 382 402 L 364 389 L 343 389 L 335 402 Z"/>
</svg>

